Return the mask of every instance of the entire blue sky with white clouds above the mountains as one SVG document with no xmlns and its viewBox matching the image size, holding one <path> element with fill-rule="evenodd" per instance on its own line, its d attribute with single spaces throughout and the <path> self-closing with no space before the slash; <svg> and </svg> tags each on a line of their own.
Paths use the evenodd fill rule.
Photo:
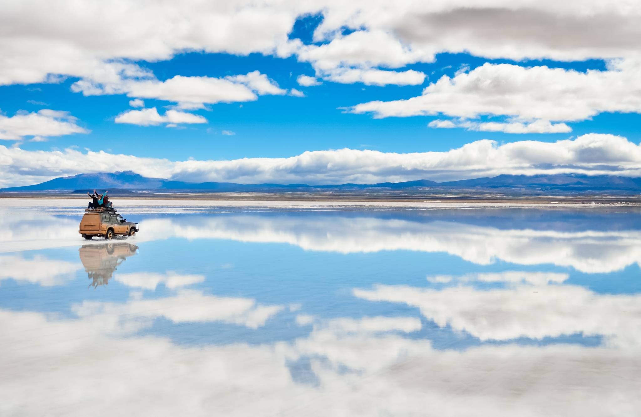
<svg viewBox="0 0 641 417">
<path fill-rule="evenodd" d="M 541 173 L 543 167 L 639 175 L 630 166 L 641 161 L 637 48 L 628 38 L 599 41 L 599 32 L 608 28 L 590 29 L 589 21 L 585 27 L 573 26 L 587 12 L 594 13 L 594 19 L 603 17 L 594 4 L 577 10 L 540 5 L 538 17 L 531 17 L 525 6 L 512 10 L 508 3 L 488 17 L 481 4 L 475 6 L 476 14 L 465 17 L 470 21 L 461 17 L 469 10 L 465 2 L 455 2 L 461 4 L 453 4 L 449 12 L 419 11 L 404 2 L 398 10 L 385 4 L 365 10 L 329 2 L 322 11 L 320 6 L 287 2 L 262 7 L 247 2 L 236 8 L 212 5 L 212 10 L 199 13 L 197 6 L 190 9 L 187 4 L 183 18 L 202 19 L 203 26 L 196 20 L 187 33 L 179 33 L 181 28 L 171 30 L 171 10 L 163 10 L 164 17 L 159 12 L 148 27 L 122 30 L 128 19 L 150 12 L 152 6 L 127 11 L 87 8 L 70 17 L 64 7 L 47 10 L 34 1 L 42 9 L 34 10 L 35 4 L 29 9 L 27 3 L 10 10 L 10 27 L 0 38 L 0 138 L 5 139 L 0 140 L 0 163 L 8 172 L 0 185 L 123 166 L 149 176 L 235 182 L 447 180 Z M 512 10 L 513 16 L 505 20 L 501 10 Z M 634 13 L 613 10 L 619 20 L 610 22 L 610 29 L 626 28 Z M 258 14 L 245 14 L 253 12 Z M 60 19 L 30 32 L 45 13 Z M 444 13 L 452 23 L 425 34 L 440 28 L 434 19 L 443 19 Z M 236 26 L 215 26 L 221 17 L 237 19 Z M 417 22 L 419 17 L 424 20 Z M 74 19 L 96 27 L 78 26 Z M 108 26 L 119 19 L 122 26 Z M 523 19 L 536 30 L 522 31 L 518 22 Z M 158 30 L 163 25 L 169 25 L 166 32 Z M 550 40 L 546 31 L 556 38 Z M 245 74 L 255 77 L 249 80 Z M 374 81 L 368 81 L 368 74 Z M 301 85 L 301 75 L 315 77 L 319 85 Z M 174 77 L 183 83 L 170 86 Z M 205 81 L 216 84 L 204 92 Z M 235 90 L 224 92 L 228 87 Z M 301 92 L 304 97 L 299 97 Z M 254 97 L 247 99 L 247 94 Z M 130 106 L 134 99 L 144 105 Z M 25 119 L 29 114 L 31 119 Z M 174 123 L 176 117 L 183 123 Z M 515 131 L 527 133 L 509 133 Z M 589 136 L 593 133 L 624 141 Z M 498 161 L 474 151 L 463 158 L 464 165 L 479 166 L 474 172 L 458 169 L 460 161 L 433 168 L 434 158 L 449 158 L 452 149 L 483 139 L 492 140 L 499 150 L 511 142 L 537 148 L 520 155 L 540 154 L 545 142 L 574 142 L 562 142 L 551 152 L 572 153 L 565 160 L 522 161 L 508 155 Z M 372 159 L 333 173 L 328 166 L 345 161 L 332 154 L 312 163 L 313 174 L 307 168 L 301 174 L 296 163 L 274 172 L 272 166 L 257 168 L 258 160 L 253 160 L 251 166 L 234 168 L 240 175 L 213 164 L 344 148 L 378 151 L 386 161 L 391 160 L 389 153 L 399 153 L 411 163 L 390 162 L 387 171 L 379 173 L 372 172 L 372 166 L 380 165 Z M 595 148 L 596 160 L 594 155 L 590 161 L 579 155 L 581 149 L 594 153 Z M 94 158 L 87 156 L 88 150 L 104 152 Z M 425 154 L 430 151 L 440 154 Z M 408 156 L 413 153 L 420 155 Z M 613 160 L 613 153 L 623 156 Z M 135 159 L 119 163 L 117 155 Z M 374 154 L 351 153 L 349 159 L 365 160 L 367 155 Z M 632 160 L 626 160 L 629 155 Z M 140 158 L 209 165 L 181 169 Z M 336 160 L 328 165 L 323 158 Z M 595 169 L 594 162 L 601 168 Z M 412 164 L 420 168 L 406 168 Z M 321 166 L 324 171 L 317 171 Z"/>
</svg>

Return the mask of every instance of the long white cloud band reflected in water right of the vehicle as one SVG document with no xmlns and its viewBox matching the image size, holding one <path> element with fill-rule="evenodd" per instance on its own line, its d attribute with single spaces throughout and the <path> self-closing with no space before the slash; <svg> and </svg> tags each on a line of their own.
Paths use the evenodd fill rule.
<svg viewBox="0 0 641 417">
<path fill-rule="evenodd" d="M 417 223 L 367 217 L 317 217 L 270 221 L 260 216 L 226 216 L 194 225 L 149 220 L 146 237 L 229 239 L 254 243 L 287 243 L 304 250 L 335 253 L 376 253 L 390 250 L 448 253 L 467 262 L 491 265 L 497 260 L 517 265 L 553 264 L 583 273 L 611 273 L 641 266 L 641 233 L 635 230 L 501 229 L 457 221 Z M 153 232 L 157 230 L 157 235 Z M 16 231 L 17 233 L 17 231 Z M 14 237 L 17 240 L 17 236 Z M 565 274 L 508 271 L 501 275 L 428 277 L 437 282 L 563 282 Z"/>
</svg>

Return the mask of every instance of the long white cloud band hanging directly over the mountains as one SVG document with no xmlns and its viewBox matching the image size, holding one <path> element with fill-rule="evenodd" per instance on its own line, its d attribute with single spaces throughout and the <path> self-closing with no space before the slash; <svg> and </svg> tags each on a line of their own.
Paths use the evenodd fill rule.
<svg viewBox="0 0 641 417">
<path fill-rule="evenodd" d="M 641 146 L 614 135 L 498 144 L 477 140 L 443 152 L 383 153 L 335 149 L 288 158 L 170 161 L 77 149 L 28 151 L 0 146 L 0 185 L 29 185 L 59 176 L 133 170 L 188 182 L 376 183 L 437 181 L 499 174 L 612 174 L 641 176 Z"/>
</svg>

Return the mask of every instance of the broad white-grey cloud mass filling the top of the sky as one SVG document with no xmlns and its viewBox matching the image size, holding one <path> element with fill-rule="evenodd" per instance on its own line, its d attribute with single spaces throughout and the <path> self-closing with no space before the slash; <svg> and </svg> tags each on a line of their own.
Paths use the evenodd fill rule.
<svg viewBox="0 0 641 417">
<path fill-rule="evenodd" d="M 607 7 L 590 0 L 580 8 L 529 0 L 246 0 L 233 6 L 187 1 L 83 8 L 41 0 L 20 3 L 5 10 L 0 22 L 0 84 L 71 76 L 81 79 L 76 87 L 87 94 L 123 79 L 153 76 L 132 62 L 169 60 L 184 51 L 296 55 L 323 72 L 400 68 L 431 62 L 442 52 L 512 60 L 633 58 L 641 35 L 641 9 L 623 0 Z M 317 43 L 290 40 L 297 17 L 315 13 L 323 17 L 313 34 Z"/>
</svg>

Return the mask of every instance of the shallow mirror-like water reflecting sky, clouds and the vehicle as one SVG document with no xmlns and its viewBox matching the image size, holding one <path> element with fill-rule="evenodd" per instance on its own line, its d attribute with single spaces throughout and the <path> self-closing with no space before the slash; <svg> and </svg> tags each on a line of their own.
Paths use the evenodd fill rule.
<svg viewBox="0 0 641 417">
<path fill-rule="evenodd" d="M 0 200 L 1 416 L 634 416 L 631 208 Z M 141 204 L 144 204 L 142 206 Z"/>
</svg>

